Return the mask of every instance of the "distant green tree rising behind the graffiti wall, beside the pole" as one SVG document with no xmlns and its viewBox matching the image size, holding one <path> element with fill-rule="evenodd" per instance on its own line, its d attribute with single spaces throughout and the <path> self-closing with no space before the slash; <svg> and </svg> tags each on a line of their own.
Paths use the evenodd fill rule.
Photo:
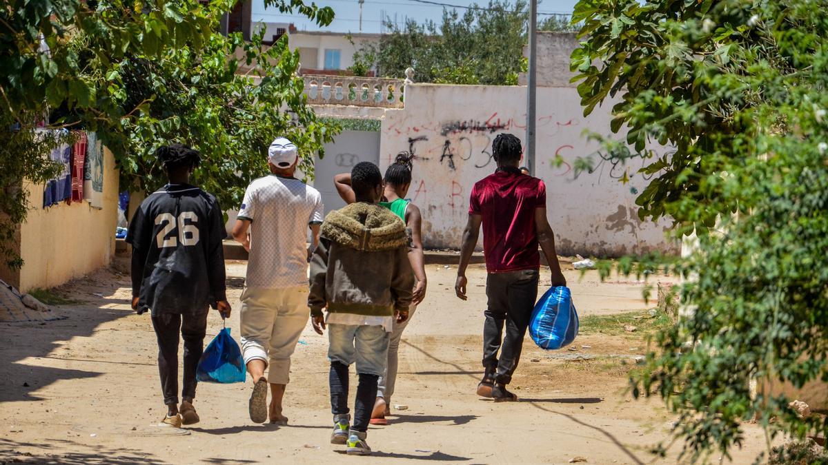
<svg viewBox="0 0 828 465">
<path fill-rule="evenodd" d="M 462 15 L 443 10 L 439 24 L 409 19 L 400 27 L 387 21 L 390 33 L 358 53 L 371 57 L 383 76 L 402 78 L 412 67 L 419 82 L 514 85 L 517 74 L 526 70 L 527 18 L 525 0 L 514 5 L 489 0 L 484 7 L 473 3 Z M 548 17 L 539 26 L 571 30 L 560 17 Z"/>
</svg>

